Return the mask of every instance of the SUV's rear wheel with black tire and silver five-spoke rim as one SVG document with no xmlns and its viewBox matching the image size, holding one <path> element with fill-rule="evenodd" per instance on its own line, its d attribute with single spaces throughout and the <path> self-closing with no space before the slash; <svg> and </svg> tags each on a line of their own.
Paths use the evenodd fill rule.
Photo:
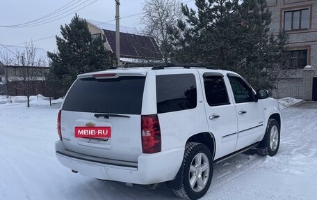
<svg viewBox="0 0 317 200">
<path fill-rule="evenodd" d="M 182 199 L 200 199 L 208 191 L 212 176 L 213 160 L 209 148 L 201 143 L 190 142 L 186 144 L 183 164 L 173 180 L 172 190 Z"/>
</svg>

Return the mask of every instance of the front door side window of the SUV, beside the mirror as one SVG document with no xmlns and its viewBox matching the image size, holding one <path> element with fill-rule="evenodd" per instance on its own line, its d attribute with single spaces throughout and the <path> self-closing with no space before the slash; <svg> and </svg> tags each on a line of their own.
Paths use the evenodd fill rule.
<svg viewBox="0 0 317 200">
<path fill-rule="evenodd" d="M 236 103 L 254 101 L 252 89 L 250 89 L 250 86 L 248 86 L 243 79 L 233 76 L 229 76 L 228 78 L 232 91 L 234 92 L 234 100 Z"/>
</svg>

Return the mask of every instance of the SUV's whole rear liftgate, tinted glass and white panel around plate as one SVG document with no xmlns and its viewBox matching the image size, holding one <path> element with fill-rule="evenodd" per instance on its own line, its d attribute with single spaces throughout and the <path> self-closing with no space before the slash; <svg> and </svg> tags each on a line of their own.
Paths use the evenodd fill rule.
<svg viewBox="0 0 317 200">
<path fill-rule="evenodd" d="M 141 110 L 145 75 L 81 77 L 68 91 L 61 111 L 65 148 L 70 151 L 136 162 L 142 153 Z M 76 127 L 111 129 L 108 138 L 75 137 Z"/>
</svg>

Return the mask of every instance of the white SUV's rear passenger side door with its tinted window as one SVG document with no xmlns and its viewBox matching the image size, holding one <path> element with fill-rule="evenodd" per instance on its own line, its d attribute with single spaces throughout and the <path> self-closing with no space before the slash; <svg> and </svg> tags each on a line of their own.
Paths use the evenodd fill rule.
<svg viewBox="0 0 317 200">
<path fill-rule="evenodd" d="M 236 107 L 230 102 L 225 79 L 220 72 L 202 73 L 209 131 L 216 139 L 215 160 L 234 152 L 237 133 Z"/>
</svg>

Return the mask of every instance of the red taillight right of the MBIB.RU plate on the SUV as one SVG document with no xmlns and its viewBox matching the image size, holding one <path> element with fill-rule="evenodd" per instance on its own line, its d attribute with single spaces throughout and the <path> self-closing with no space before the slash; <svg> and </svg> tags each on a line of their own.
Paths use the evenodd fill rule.
<svg viewBox="0 0 317 200">
<path fill-rule="evenodd" d="M 161 130 L 157 114 L 143 115 L 141 124 L 143 153 L 161 151 Z"/>
</svg>

